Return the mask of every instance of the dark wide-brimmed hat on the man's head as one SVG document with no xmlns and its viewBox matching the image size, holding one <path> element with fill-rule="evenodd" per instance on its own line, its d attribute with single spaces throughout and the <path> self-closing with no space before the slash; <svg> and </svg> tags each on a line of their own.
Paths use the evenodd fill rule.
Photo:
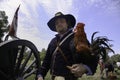
<svg viewBox="0 0 120 80">
<path fill-rule="evenodd" d="M 49 26 L 49 28 L 52 30 L 52 31 L 55 31 L 56 32 L 56 28 L 55 28 L 55 21 L 56 19 L 58 18 L 65 18 L 67 23 L 68 23 L 68 28 L 73 28 L 75 26 L 75 23 L 76 23 L 76 20 L 75 20 L 75 17 L 71 14 L 62 14 L 61 12 L 57 12 L 55 14 L 55 16 L 50 19 L 47 23 L 47 25 Z"/>
</svg>

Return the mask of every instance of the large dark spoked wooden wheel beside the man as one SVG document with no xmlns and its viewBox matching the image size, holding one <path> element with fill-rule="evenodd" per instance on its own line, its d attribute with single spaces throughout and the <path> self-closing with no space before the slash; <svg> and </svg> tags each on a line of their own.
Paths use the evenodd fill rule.
<svg viewBox="0 0 120 80">
<path fill-rule="evenodd" d="M 35 45 L 27 40 L 11 40 L 0 44 L 0 79 L 25 80 L 36 74 L 40 56 Z"/>
</svg>

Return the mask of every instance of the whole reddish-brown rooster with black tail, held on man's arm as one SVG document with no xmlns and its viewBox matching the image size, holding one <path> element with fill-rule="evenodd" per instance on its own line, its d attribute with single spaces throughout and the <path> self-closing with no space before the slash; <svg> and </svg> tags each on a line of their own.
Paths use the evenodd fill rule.
<svg viewBox="0 0 120 80">
<path fill-rule="evenodd" d="M 108 51 L 115 53 L 114 50 L 110 48 L 111 44 L 108 42 L 111 40 L 109 40 L 107 37 L 99 36 L 94 38 L 95 34 L 98 32 L 94 32 L 92 34 L 91 43 L 89 43 L 84 31 L 84 26 L 84 23 L 78 23 L 74 29 L 74 45 L 77 53 L 80 53 L 81 56 L 87 58 L 90 58 L 91 55 L 101 55 L 104 60 L 106 59 Z"/>
</svg>

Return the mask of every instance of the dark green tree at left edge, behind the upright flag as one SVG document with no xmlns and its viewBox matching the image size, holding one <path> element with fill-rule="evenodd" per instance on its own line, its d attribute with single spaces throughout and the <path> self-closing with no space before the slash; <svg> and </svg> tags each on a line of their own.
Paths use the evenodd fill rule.
<svg viewBox="0 0 120 80">
<path fill-rule="evenodd" d="M 6 16 L 5 11 L 0 11 L 0 42 L 6 32 L 8 32 L 8 16 Z"/>
</svg>

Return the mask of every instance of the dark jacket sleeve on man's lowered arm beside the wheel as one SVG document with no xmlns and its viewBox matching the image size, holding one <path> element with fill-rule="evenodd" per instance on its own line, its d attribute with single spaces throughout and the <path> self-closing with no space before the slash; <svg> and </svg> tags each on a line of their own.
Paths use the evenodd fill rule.
<svg viewBox="0 0 120 80">
<path fill-rule="evenodd" d="M 48 49 L 46 51 L 45 58 L 43 60 L 43 63 L 38 71 L 38 75 L 41 75 L 43 78 L 46 76 L 48 70 L 50 69 L 51 64 L 51 43 L 48 45 Z"/>
</svg>

